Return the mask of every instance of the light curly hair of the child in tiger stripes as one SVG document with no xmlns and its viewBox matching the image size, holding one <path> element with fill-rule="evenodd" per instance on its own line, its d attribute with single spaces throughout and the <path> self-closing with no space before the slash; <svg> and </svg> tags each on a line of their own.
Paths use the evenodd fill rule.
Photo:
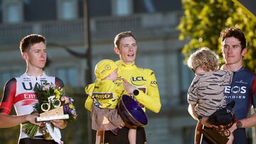
<svg viewBox="0 0 256 144">
<path fill-rule="evenodd" d="M 193 54 L 188 57 L 187 64 L 191 69 L 194 67 L 202 67 L 203 70 L 207 72 L 210 70 L 218 70 L 218 55 L 209 48 L 203 47 L 196 50 L 196 52 L 193 52 Z"/>
</svg>

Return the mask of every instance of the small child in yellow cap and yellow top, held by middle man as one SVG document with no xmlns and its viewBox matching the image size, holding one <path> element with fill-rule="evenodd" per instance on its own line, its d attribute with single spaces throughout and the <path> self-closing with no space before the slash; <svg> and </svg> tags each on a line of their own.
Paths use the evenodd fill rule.
<svg viewBox="0 0 256 144">
<path fill-rule="evenodd" d="M 89 95 L 86 102 L 93 103 L 89 108 L 92 111 L 92 129 L 97 131 L 96 144 L 100 144 L 103 131 L 114 131 L 124 126 L 116 109 L 119 97 L 124 94 L 124 87 L 122 82 L 117 81 L 117 65 L 112 60 L 98 62 L 95 76 L 95 83 L 85 87 L 85 92 Z M 130 128 L 128 137 L 130 144 L 136 144 L 136 128 Z"/>
</svg>

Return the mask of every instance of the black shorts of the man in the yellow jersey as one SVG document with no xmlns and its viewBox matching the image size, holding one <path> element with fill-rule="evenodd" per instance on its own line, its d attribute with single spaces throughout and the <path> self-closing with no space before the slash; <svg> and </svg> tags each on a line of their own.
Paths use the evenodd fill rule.
<svg viewBox="0 0 256 144">
<path fill-rule="evenodd" d="M 104 135 L 104 143 L 109 144 L 129 144 L 128 140 L 128 131 L 129 128 L 124 127 L 119 131 L 118 135 L 114 135 L 111 131 L 105 131 Z M 136 136 L 137 144 L 146 144 L 146 133 L 144 128 L 137 127 L 137 136 Z"/>
</svg>

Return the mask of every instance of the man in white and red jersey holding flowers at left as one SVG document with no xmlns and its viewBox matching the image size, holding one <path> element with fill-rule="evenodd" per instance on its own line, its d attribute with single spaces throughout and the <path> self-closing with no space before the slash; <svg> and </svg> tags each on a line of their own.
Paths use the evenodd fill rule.
<svg viewBox="0 0 256 144">
<path fill-rule="evenodd" d="M 6 82 L 4 96 L 0 104 L 0 128 L 11 128 L 22 123 L 36 123 L 36 115 L 31 115 L 33 104 L 37 102 L 33 87 L 36 83 L 53 83 L 63 87 L 63 82 L 57 77 L 48 77 L 43 68 L 46 65 L 46 38 L 42 35 L 26 35 L 21 40 L 20 50 L 23 60 L 26 61 L 26 72 L 20 77 L 15 77 Z M 9 116 L 11 106 L 14 104 L 17 116 Z M 56 128 L 65 128 L 66 121 L 51 121 Z M 21 125 L 22 126 L 22 125 Z M 42 133 L 37 132 L 34 138 L 28 138 L 26 133 L 21 131 L 19 138 L 20 144 L 37 143 L 50 144 L 56 143 L 54 140 L 45 140 Z"/>
</svg>

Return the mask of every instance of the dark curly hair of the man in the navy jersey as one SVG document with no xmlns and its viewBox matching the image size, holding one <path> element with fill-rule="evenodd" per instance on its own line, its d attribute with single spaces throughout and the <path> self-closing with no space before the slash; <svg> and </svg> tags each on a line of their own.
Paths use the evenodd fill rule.
<svg viewBox="0 0 256 144">
<path fill-rule="evenodd" d="M 234 37 L 240 40 L 242 50 L 246 48 L 245 33 L 243 33 L 239 28 L 225 28 L 220 32 L 220 38 L 222 42 L 225 40 L 225 38 L 230 37 Z"/>
</svg>

